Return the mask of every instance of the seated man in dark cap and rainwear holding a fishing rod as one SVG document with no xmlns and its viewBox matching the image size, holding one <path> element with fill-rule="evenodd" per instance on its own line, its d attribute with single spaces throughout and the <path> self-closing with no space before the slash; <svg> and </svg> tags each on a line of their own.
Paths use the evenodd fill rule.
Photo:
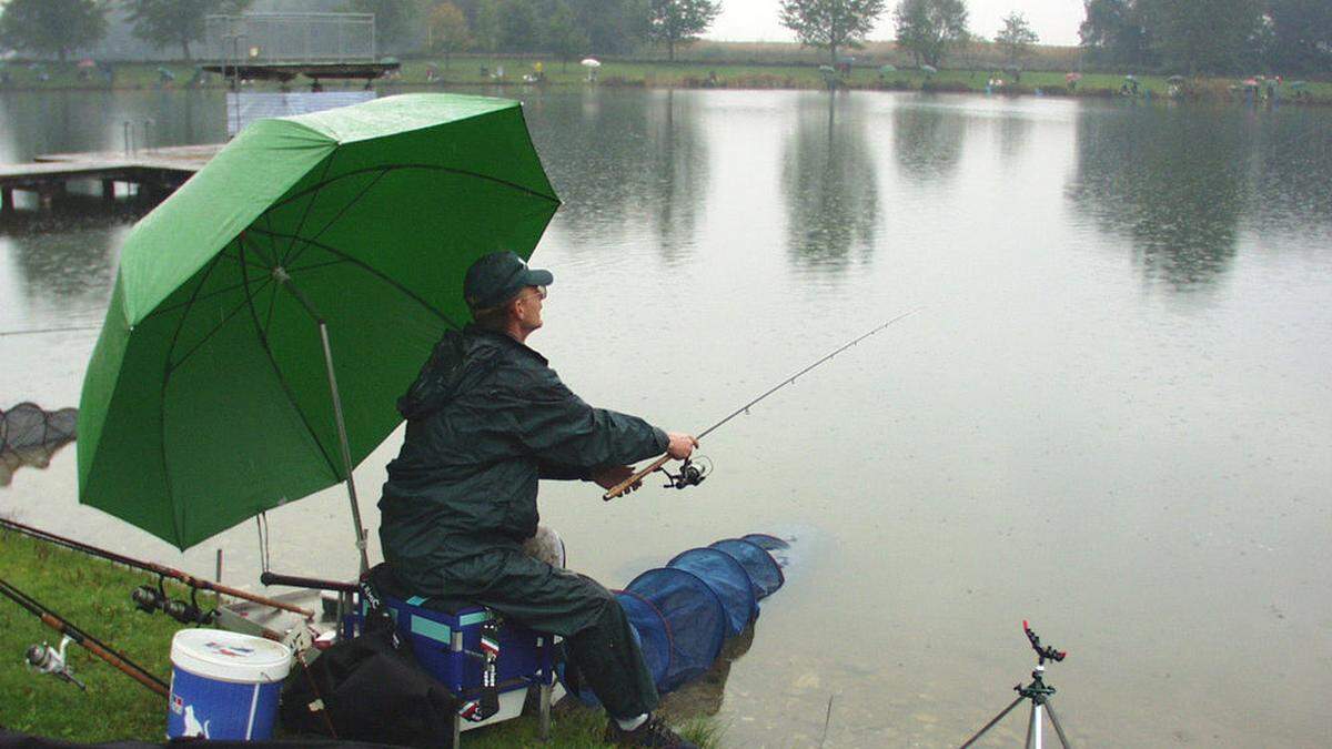
<svg viewBox="0 0 1332 749">
<path fill-rule="evenodd" d="M 683 460 L 698 444 L 587 405 L 527 348 L 553 281 L 511 252 L 468 269 L 476 323 L 445 333 L 398 400 L 408 428 L 380 501 L 384 557 L 417 594 L 464 598 L 562 636 L 566 670 L 611 718 L 607 741 L 693 746 L 651 717 L 657 688 L 614 596 L 522 550 L 537 532 L 538 478 L 609 489 L 633 474 L 627 464 L 663 452 Z"/>
</svg>

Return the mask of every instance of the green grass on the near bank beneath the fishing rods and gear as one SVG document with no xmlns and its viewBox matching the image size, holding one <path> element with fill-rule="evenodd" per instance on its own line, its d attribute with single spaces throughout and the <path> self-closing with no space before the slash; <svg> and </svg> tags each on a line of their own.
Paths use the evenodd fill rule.
<svg viewBox="0 0 1332 749">
<path fill-rule="evenodd" d="M 181 628 L 165 614 L 133 608 L 129 592 L 155 582 L 151 576 L 76 552 L 0 530 L 0 578 L 65 617 L 163 681 L 170 680 L 170 638 Z M 186 596 L 168 586 L 173 597 Z M 208 596 L 201 596 L 202 604 Z M 65 741 L 163 741 L 166 702 L 88 650 L 69 645 L 75 676 L 87 686 L 29 672 L 24 652 L 37 642 L 57 644 L 59 633 L 7 597 L 0 597 L 0 726 Z M 602 746 L 606 718 L 599 710 L 561 709 L 551 741 L 542 745 L 535 718 L 517 718 L 464 734 L 462 745 L 477 749 L 549 746 L 585 749 Z M 702 746 L 719 745 L 721 728 L 713 720 L 685 724 L 687 736 Z"/>
</svg>

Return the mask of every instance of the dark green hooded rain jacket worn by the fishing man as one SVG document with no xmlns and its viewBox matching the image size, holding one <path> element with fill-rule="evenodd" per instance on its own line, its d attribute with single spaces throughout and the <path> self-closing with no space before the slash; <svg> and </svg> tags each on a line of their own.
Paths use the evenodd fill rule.
<svg viewBox="0 0 1332 749">
<path fill-rule="evenodd" d="M 587 478 L 667 445 L 642 418 L 583 402 L 539 353 L 476 327 L 445 333 L 398 410 L 408 430 L 384 484 L 380 541 L 424 594 L 446 593 L 445 568 L 466 578 L 469 557 L 521 549 L 537 532 L 538 478 Z"/>
</svg>

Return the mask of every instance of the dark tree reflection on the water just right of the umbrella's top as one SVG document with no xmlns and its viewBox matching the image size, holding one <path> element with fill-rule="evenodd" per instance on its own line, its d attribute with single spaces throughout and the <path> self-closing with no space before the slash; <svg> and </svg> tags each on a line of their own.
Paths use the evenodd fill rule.
<svg viewBox="0 0 1332 749">
<path fill-rule="evenodd" d="M 575 248 L 639 224 L 667 261 L 693 245 L 709 164 L 697 92 L 589 88 L 530 101 L 525 111 L 565 201 L 559 225 Z"/>
</svg>

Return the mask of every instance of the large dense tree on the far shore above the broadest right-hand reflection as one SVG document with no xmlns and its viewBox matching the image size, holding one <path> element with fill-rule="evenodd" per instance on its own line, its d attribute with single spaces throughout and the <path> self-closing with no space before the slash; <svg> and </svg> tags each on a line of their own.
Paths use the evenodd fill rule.
<svg viewBox="0 0 1332 749">
<path fill-rule="evenodd" d="M 1138 0 L 1162 59 L 1177 71 L 1244 68 L 1263 21 L 1259 0 Z"/>
</svg>

